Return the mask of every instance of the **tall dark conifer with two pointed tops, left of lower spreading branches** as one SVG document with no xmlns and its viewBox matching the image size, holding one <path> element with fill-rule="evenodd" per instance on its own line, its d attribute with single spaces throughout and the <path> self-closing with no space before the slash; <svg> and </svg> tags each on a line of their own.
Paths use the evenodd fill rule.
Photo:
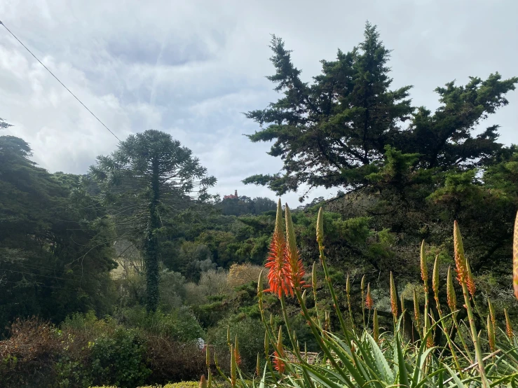
<svg viewBox="0 0 518 388">
<path fill-rule="evenodd" d="M 385 146 L 413 109 L 407 99 L 410 86 L 390 90 L 390 51 L 376 27 L 367 22 L 364 36 L 350 53 L 339 50 L 336 61 L 322 60 L 322 74 L 313 77 L 312 85 L 301 81 L 290 51 L 273 36 L 276 72 L 268 79 L 278 83 L 275 90 L 285 97 L 247 117 L 261 127 L 268 124 L 249 138 L 275 140 L 269 154 L 284 160 L 284 172 L 250 176 L 245 183 L 268 185 L 278 194 L 302 183 L 310 188 L 365 183 L 372 164 L 383 160 Z"/>
</svg>

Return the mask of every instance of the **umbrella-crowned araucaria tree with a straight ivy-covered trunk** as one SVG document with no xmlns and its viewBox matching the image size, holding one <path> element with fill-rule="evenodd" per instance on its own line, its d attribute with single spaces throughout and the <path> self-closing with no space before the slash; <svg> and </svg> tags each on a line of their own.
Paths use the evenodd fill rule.
<svg viewBox="0 0 518 388">
<path fill-rule="evenodd" d="M 216 179 L 189 148 L 170 134 L 147 130 L 121 141 L 109 156 L 90 167 L 126 238 L 140 242 L 146 272 L 146 308 L 158 307 L 158 239 L 181 212 L 210 198 Z"/>
</svg>

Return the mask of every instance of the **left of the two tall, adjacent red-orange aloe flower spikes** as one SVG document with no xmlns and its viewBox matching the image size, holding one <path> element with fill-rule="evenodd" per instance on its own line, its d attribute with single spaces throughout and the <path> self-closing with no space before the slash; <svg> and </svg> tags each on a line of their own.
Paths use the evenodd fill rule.
<svg viewBox="0 0 518 388">
<path fill-rule="evenodd" d="M 269 270 L 267 275 L 269 288 L 264 290 L 264 292 L 275 293 L 279 298 L 288 293 L 293 296 L 290 267 L 286 255 L 286 241 L 282 230 L 282 207 L 280 200 L 277 204 L 275 230 L 273 230 L 273 238 L 265 267 Z"/>
</svg>

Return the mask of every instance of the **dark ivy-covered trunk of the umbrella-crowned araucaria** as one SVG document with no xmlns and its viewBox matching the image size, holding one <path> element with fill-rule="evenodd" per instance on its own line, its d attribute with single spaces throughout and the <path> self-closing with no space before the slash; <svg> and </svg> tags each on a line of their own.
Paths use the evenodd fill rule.
<svg viewBox="0 0 518 388">
<path fill-rule="evenodd" d="M 151 174 L 151 198 L 149 198 L 149 224 L 146 230 L 146 310 L 154 312 L 158 308 L 158 241 L 155 231 L 160 227 L 156 207 L 160 199 L 160 186 L 158 174 L 158 161 L 153 161 Z"/>
</svg>

